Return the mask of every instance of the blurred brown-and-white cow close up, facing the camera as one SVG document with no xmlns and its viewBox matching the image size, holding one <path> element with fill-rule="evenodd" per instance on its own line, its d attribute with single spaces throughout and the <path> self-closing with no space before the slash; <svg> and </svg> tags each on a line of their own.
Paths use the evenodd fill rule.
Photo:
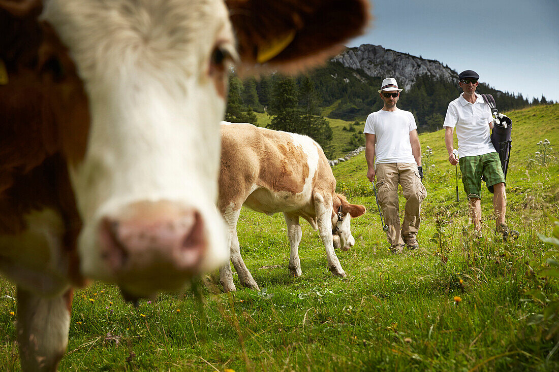
<svg viewBox="0 0 559 372">
<path fill-rule="evenodd" d="M 55 370 L 72 287 L 128 299 L 227 261 L 215 208 L 230 61 L 336 53 L 365 0 L 0 0 L 0 271 L 23 370 Z"/>
</svg>

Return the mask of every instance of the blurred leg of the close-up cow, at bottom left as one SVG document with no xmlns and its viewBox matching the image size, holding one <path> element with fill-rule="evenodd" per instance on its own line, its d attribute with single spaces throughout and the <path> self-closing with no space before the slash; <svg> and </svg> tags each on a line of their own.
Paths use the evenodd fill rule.
<svg viewBox="0 0 559 372">
<path fill-rule="evenodd" d="M 17 288 L 17 342 L 23 371 L 55 371 L 66 351 L 72 289 L 43 298 Z"/>
</svg>

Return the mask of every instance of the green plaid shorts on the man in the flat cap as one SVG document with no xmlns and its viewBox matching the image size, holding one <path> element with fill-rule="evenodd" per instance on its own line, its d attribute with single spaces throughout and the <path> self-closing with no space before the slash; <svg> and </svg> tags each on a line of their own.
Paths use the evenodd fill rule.
<svg viewBox="0 0 559 372">
<path fill-rule="evenodd" d="M 498 183 L 505 183 L 505 175 L 501 168 L 499 154 L 465 156 L 460 158 L 460 171 L 462 171 L 462 183 L 468 199 L 481 199 L 481 176 L 485 177 L 487 187 Z"/>
</svg>

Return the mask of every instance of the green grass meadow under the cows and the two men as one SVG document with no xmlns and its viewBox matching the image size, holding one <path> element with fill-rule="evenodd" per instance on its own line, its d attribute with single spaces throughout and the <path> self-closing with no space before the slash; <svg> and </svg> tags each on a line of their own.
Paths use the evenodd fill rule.
<svg viewBox="0 0 559 372">
<path fill-rule="evenodd" d="M 507 214 L 509 226 L 520 232 L 516 241 L 494 235 L 486 190 L 484 237 L 471 238 L 461 183 L 456 201 L 444 132 L 425 133 L 423 151 L 429 146 L 433 154 L 424 158 L 428 197 L 419 250 L 389 254 L 362 153 L 333 168 L 338 192 L 367 207 L 352 221 L 356 245 L 337 251 L 347 278 L 330 274 L 318 234 L 306 223 L 303 276 L 289 276 L 283 216 L 243 209 L 241 253 L 259 292 L 237 280 L 238 292 L 222 293 L 217 272 L 138 308 L 124 303 L 113 285 L 76 290 L 60 370 L 558 370 L 553 327 L 559 325 L 559 284 L 544 271 L 557 261 L 550 261 L 553 246 L 538 234 L 551 236 L 550 217 L 559 217 L 559 162 L 542 164 L 535 152 L 544 139 L 559 146 L 559 104 L 508 115 L 513 152 Z M 0 279 L 0 295 L 0 370 L 17 371 L 15 287 Z"/>
</svg>

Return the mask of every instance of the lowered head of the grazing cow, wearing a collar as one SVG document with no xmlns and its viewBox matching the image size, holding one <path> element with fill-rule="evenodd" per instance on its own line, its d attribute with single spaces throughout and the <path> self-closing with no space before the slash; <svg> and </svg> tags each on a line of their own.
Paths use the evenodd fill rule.
<svg viewBox="0 0 559 372">
<path fill-rule="evenodd" d="M 351 219 L 365 213 L 365 207 L 349 204 L 343 195 L 336 194 L 332 203 L 332 237 L 334 249 L 349 250 L 355 245 L 351 233 Z"/>
</svg>

